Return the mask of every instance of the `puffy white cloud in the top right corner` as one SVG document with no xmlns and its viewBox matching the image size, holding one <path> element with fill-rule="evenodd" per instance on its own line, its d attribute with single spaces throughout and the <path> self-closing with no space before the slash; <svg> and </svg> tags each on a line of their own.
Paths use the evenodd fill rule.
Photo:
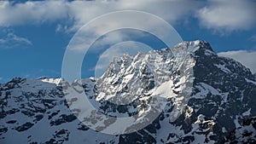
<svg viewBox="0 0 256 144">
<path fill-rule="evenodd" d="M 256 25 L 255 8 L 255 1 L 212 0 L 196 13 L 196 17 L 200 20 L 201 26 L 218 32 L 248 30 Z"/>
</svg>

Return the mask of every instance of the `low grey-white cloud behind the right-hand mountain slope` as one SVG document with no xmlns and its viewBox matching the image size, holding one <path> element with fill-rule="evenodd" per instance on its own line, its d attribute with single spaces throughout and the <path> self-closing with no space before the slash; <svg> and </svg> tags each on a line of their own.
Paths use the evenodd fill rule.
<svg viewBox="0 0 256 144">
<path fill-rule="evenodd" d="M 253 73 L 256 72 L 256 51 L 237 50 L 218 53 L 220 56 L 230 57 L 241 62 L 242 65 L 247 66 Z"/>
</svg>

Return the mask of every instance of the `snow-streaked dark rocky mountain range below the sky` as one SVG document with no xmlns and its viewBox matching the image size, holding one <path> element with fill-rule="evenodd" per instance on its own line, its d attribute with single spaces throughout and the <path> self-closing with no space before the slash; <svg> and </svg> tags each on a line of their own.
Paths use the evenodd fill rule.
<svg viewBox="0 0 256 144">
<path fill-rule="evenodd" d="M 123 55 L 101 78 L 81 82 L 14 78 L 1 84 L 0 143 L 256 142 L 255 75 L 216 55 L 205 41 Z M 100 112 L 113 117 L 147 113 L 154 94 L 165 95 L 166 107 L 142 130 L 107 135 L 79 121 L 83 110 L 69 108 L 79 99 L 66 101 L 62 90 L 79 91 L 78 86 Z"/>
</svg>

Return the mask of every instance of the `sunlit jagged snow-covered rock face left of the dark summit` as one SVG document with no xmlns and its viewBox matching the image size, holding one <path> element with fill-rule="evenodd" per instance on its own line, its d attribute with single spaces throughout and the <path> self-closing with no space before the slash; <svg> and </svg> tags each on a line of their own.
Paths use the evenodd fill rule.
<svg viewBox="0 0 256 144">
<path fill-rule="evenodd" d="M 148 54 L 138 53 L 134 58 L 124 55 L 119 60 L 113 60 L 108 70 L 96 81 L 96 101 L 118 101 L 120 105 L 126 105 L 131 101 L 148 101 L 155 94 L 154 91 L 160 88 L 173 89 L 175 93 L 189 91 L 193 84 L 193 66 L 193 57 L 181 55 L 177 59 L 172 49 L 151 50 Z M 167 98 L 174 97 L 177 95 L 175 93 L 169 90 Z M 187 101 L 187 96 L 189 94 L 173 102 L 174 108 L 183 111 L 183 102 Z M 128 114 L 133 111 L 128 110 Z M 176 112 L 177 115 L 178 113 Z"/>
</svg>

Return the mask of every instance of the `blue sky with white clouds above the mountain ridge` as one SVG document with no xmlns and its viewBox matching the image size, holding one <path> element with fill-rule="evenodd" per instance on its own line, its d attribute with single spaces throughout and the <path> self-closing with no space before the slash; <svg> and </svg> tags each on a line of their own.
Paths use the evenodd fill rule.
<svg viewBox="0 0 256 144">
<path fill-rule="evenodd" d="M 96 23 L 102 14 L 122 10 L 156 15 L 184 41 L 206 40 L 218 55 L 238 60 L 256 72 L 255 8 L 254 0 L 0 1 L 0 83 L 15 77 L 60 78 L 64 55 L 81 27 Z M 100 37 L 84 55 L 82 78 L 99 77 L 113 56 L 166 47 L 159 37 L 141 30 L 123 28 L 100 35 L 102 28 L 120 23 L 136 21 L 122 15 L 119 21 L 107 17 L 90 28 Z M 157 31 L 155 25 L 144 24 Z M 88 40 L 92 36 L 83 35 Z M 83 47 L 79 48 L 73 51 L 83 53 Z"/>
</svg>

